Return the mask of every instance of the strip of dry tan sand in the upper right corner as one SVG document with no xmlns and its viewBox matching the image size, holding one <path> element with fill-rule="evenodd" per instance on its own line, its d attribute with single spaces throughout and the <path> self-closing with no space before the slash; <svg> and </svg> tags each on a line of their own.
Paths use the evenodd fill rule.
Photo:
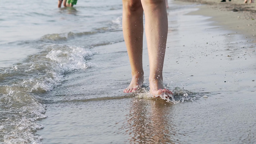
<svg viewBox="0 0 256 144">
<path fill-rule="evenodd" d="M 198 10 L 192 15 L 204 15 L 225 29 L 242 34 L 248 41 L 256 43 L 256 3 L 243 0 L 220 2 L 220 0 L 174 0 L 177 4 L 196 3 Z"/>
</svg>

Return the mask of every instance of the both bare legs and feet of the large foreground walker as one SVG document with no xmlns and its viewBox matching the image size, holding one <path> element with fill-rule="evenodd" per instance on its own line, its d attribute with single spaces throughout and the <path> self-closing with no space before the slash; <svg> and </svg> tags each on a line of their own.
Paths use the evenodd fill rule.
<svg viewBox="0 0 256 144">
<path fill-rule="evenodd" d="M 149 55 L 150 93 L 158 97 L 172 94 L 163 85 L 163 63 L 165 57 L 168 20 L 165 0 L 122 0 L 122 29 L 131 69 L 132 81 L 124 93 L 135 92 L 143 84 L 142 66 L 143 12 Z"/>
</svg>

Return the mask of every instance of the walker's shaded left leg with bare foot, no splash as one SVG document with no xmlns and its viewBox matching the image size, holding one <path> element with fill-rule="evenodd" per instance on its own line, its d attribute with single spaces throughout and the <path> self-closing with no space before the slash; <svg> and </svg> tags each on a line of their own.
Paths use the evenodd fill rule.
<svg viewBox="0 0 256 144">
<path fill-rule="evenodd" d="M 144 81 L 142 66 L 143 8 L 140 0 L 122 0 L 122 3 L 123 37 L 132 68 L 132 81 L 123 92 L 130 93 L 135 92 Z"/>
</svg>

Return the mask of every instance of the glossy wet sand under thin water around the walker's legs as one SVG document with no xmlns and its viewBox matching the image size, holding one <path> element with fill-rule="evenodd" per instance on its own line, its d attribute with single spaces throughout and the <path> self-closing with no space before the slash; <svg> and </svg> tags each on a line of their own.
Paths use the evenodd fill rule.
<svg viewBox="0 0 256 144">
<path fill-rule="evenodd" d="M 125 44 L 99 46 L 89 60 L 99 64 L 96 70 L 67 75 L 47 94 L 52 103 L 46 104 L 48 118 L 39 121 L 44 129 L 37 132 L 42 143 L 256 143 L 254 36 L 205 15 L 218 15 L 209 9 L 212 5 L 198 6 L 178 2 L 177 10 L 169 13 L 163 75 L 179 103 L 148 98 L 147 92 L 123 94 L 131 78 Z"/>
</svg>

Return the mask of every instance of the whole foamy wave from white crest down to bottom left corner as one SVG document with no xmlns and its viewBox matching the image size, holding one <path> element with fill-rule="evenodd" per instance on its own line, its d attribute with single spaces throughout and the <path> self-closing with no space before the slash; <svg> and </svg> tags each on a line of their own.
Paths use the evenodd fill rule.
<svg viewBox="0 0 256 144">
<path fill-rule="evenodd" d="M 40 143 L 34 133 L 43 126 L 36 121 L 47 117 L 40 94 L 61 84 L 65 73 L 91 67 L 85 58 L 92 55 L 85 48 L 50 45 L 24 63 L 1 68 L 0 143 Z"/>
</svg>

